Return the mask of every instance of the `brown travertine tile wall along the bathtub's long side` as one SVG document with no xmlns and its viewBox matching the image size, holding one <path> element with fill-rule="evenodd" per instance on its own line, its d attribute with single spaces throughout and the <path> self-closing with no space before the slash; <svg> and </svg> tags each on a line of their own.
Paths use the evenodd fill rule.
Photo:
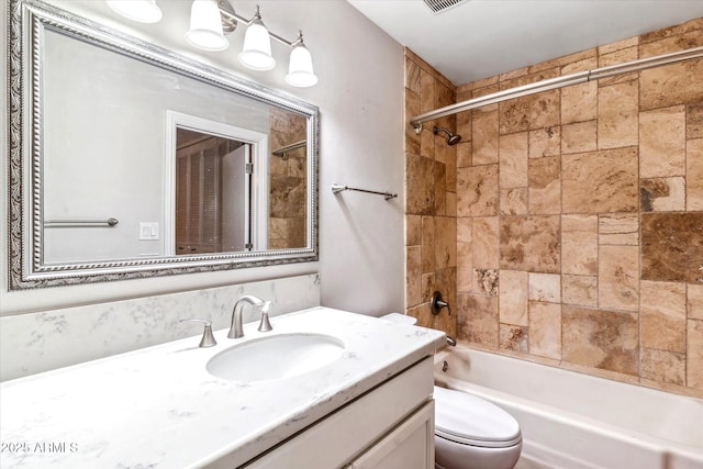
<svg viewBox="0 0 703 469">
<path fill-rule="evenodd" d="M 457 101 L 700 46 L 703 19 L 459 86 Z M 417 114 L 411 82 L 406 96 Z M 703 60 L 456 121 L 458 338 L 703 395 Z"/>
</svg>

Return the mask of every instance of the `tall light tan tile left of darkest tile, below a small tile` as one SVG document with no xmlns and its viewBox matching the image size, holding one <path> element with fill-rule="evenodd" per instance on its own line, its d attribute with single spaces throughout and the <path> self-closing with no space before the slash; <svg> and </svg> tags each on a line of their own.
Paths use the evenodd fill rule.
<svg viewBox="0 0 703 469">
<path fill-rule="evenodd" d="M 639 305 L 639 249 L 637 246 L 600 247 L 599 305 L 607 310 L 637 311 Z"/>
</svg>

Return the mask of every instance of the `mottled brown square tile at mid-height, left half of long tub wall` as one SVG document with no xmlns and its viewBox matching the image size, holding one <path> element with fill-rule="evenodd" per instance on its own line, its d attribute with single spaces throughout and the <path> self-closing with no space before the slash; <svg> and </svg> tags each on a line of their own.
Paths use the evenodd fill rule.
<svg viewBox="0 0 703 469">
<path fill-rule="evenodd" d="M 501 269 L 558 272 L 559 215 L 501 219 Z"/>
</svg>

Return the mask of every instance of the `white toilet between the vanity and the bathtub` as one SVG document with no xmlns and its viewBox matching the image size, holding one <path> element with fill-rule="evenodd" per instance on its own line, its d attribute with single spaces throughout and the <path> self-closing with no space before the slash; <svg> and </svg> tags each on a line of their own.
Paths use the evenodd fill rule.
<svg viewBox="0 0 703 469">
<path fill-rule="evenodd" d="M 415 323 L 400 313 L 381 319 Z M 523 438 L 511 414 L 473 394 L 438 386 L 434 399 L 436 469 L 513 469 Z"/>
</svg>

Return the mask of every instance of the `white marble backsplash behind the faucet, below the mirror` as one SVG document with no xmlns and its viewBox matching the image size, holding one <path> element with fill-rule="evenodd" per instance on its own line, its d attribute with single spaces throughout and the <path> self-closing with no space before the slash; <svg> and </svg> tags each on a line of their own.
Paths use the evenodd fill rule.
<svg viewBox="0 0 703 469">
<path fill-rule="evenodd" d="M 205 290 L 19 314 L 0 320 L 0 380 L 21 378 L 55 368 L 94 360 L 193 337 L 212 321 L 214 331 L 230 327 L 232 309 L 243 294 L 271 301 L 271 316 L 320 305 L 320 277 L 299 276 Z M 245 323 L 257 321 L 250 309 Z"/>
</svg>

